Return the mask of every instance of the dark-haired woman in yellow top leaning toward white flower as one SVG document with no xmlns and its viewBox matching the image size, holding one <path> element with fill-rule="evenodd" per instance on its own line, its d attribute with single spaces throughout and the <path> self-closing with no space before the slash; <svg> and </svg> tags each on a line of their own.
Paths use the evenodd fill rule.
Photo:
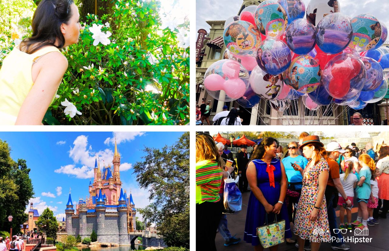
<svg viewBox="0 0 389 251">
<path fill-rule="evenodd" d="M 32 19 L 32 37 L 4 59 L 0 70 L 3 125 L 41 125 L 68 61 L 59 49 L 78 42 L 81 25 L 73 0 L 42 0 Z"/>
</svg>

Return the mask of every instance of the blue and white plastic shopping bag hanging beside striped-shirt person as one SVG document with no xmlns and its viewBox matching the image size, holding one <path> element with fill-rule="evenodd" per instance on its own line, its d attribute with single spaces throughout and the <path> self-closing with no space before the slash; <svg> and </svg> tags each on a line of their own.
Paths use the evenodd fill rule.
<svg viewBox="0 0 389 251">
<path fill-rule="evenodd" d="M 224 213 L 236 214 L 242 210 L 242 193 L 239 191 L 235 180 L 224 180 Z"/>
</svg>

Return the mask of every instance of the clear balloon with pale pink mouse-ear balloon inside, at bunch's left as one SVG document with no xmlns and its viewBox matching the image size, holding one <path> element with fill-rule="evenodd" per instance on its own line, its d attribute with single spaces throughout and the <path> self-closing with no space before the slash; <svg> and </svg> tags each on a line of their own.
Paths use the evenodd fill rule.
<svg viewBox="0 0 389 251">
<path fill-rule="evenodd" d="M 249 88 L 249 72 L 235 60 L 219 60 L 204 75 L 207 93 L 222 102 L 237 100 Z"/>
</svg>

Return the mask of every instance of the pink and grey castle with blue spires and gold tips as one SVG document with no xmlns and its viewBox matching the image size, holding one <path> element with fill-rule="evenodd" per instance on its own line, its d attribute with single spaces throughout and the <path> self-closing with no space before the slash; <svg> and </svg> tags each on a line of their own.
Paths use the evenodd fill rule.
<svg viewBox="0 0 389 251">
<path fill-rule="evenodd" d="M 115 153 L 112 160 L 113 170 L 109 164 L 100 170 L 100 161 L 95 160 L 95 177 L 93 183 L 89 181 L 89 197 L 80 199 L 74 205 L 69 193 L 66 205 L 66 230 L 68 235 L 81 238 L 90 237 L 92 230 L 97 234 L 98 242 L 130 245 L 130 232 L 136 229 L 135 204 L 132 195 L 127 197 L 126 190 L 121 188 L 120 181 L 120 155 L 117 152 L 115 140 Z"/>
</svg>

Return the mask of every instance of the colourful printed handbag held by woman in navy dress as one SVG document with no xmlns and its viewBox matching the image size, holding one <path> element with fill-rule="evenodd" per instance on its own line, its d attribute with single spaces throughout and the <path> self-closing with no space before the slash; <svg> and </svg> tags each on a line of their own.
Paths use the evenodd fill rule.
<svg viewBox="0 0 389 251">
<path fill-rule="evenodd" d="M 263 248 L 272 247 L 285 241 L 285 220 L 277 221 L 276 214 L 274 222 L 269 225 L 267 215 L 266 213 L 265 224 L 257 228 L 259 242 Z"/>
</svg>

